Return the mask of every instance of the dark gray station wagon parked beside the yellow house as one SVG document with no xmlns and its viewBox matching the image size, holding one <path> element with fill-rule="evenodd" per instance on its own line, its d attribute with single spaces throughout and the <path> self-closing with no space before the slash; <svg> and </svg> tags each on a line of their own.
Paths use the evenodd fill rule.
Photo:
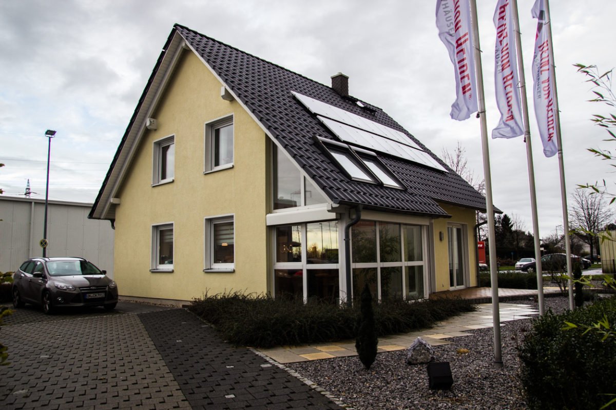
<svg viewBox="0 0 616 410">
<path fill-rule="evenodd" d="M 13 275 L 13 306 L 43 306 L 49 314 L 60 307 L 118 304 L 118 285 L 105 270 L 83 258 L 30 258 Z"/>
</svg>

